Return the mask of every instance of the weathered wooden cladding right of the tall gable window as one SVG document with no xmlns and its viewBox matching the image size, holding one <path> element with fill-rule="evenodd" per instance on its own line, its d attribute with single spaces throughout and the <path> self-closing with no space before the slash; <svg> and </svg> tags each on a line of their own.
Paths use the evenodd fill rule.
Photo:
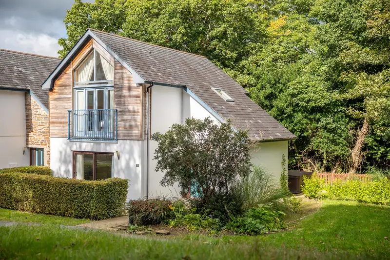
<svg viewBox="0 0 390 260">
<path fill-rule="evenodd" d="M 114 108 L 118 110 L 118 139 L 141 139 L 141 91 L 142 87 L 133 82 L 133 75 L 115 60 Z"/>
</svg>

